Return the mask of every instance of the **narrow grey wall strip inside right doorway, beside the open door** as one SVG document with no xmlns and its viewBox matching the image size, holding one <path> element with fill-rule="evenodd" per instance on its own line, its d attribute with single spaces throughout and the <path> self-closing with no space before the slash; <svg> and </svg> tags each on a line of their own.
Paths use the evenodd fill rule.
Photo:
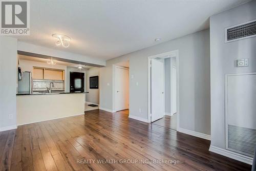
<svg viewBox="0 0 256 171">
<path fill-rule="evenodd" d="M 164 59 L 164 95 L 165 95 L 165 113 L 170 113 L 170 87 L 171 87 L 171 58 Z"/>
</svg>

